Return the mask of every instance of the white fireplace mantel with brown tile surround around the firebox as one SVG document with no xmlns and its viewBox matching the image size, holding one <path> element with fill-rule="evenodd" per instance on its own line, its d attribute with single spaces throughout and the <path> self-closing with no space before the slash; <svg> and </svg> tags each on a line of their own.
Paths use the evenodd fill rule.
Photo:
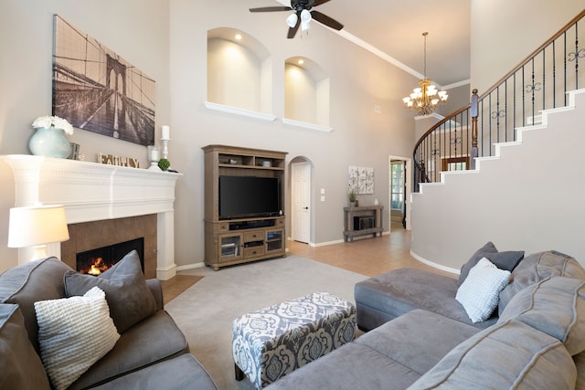
<svg viewBox="0 0 585 390">
<path fill-rule="evenodd" d="M 144 237 L 144 276 L 176 274 L 175 184 L 180 174 L 30 155 L 5 155 L 15 175 L 15 206 L 64 205 L 69 240 L 48 255 L 76 268 L 76 254 Z M 30 250 L 19 249 L 19 263 Z"/>
</svg>

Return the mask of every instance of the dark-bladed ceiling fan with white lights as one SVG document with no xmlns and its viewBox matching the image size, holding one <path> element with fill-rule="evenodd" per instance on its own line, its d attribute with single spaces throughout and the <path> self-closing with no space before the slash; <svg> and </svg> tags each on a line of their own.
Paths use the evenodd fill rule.
<svg viewBox="0 0 585 390">
<path fill-rule="evenodd" d="M 311 19 L 329 26 L 335 30 L 341 30 L 344 25 L 337 22 L 334 18 L 326 16 L 319 11 L 311 11 L 316 5 L 322 5 L 330 0 L 291 0 L 291 6 L 264 6 L 260 8 L 250 8 L 250 12 L 279 12 L 294 11 L 294 14 L 286 18 L 286 24 L 289 25 L 289 32 L 286 37 L 293 38 L 299 29 L 304 31 L 309 28 Z"/>
</svg>

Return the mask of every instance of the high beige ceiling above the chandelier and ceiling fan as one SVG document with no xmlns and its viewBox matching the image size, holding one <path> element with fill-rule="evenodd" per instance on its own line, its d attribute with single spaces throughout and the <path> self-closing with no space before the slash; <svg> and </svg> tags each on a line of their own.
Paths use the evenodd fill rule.
<svg viewBox="0 0 585 390">
<path fill-rule="evenodd" d="M 250 7 L 291 5 L 289 0 L 247 1 Z M 424 74 L 422 33 L 427 31 L 427 77 L 440 87 L 470 78 L 471 0 L 330 0 L 314 10 L 342 23 L 342 37 L 375 47 L 416 77 Z M 286 16 L 271 13 L 282 18 L 283 27 Z"/>
</svg>

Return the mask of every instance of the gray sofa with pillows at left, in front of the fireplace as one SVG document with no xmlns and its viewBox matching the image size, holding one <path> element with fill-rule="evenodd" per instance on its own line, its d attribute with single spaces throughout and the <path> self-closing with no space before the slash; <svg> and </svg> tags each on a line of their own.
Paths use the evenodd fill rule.
<svg viewBox="0 0 585 390">
<path fill-rule="evenodd" d="M 188 351 L 135 252 L 99 278 L 57 258 L 0 275 L 0 388 L 217 389 Z"/>
</svg>

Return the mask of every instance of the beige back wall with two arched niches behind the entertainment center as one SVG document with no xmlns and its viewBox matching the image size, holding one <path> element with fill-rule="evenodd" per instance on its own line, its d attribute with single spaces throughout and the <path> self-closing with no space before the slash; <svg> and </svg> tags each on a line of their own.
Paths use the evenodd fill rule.
<svg viewBox="0 0 585 390">
<path fill-rule="evenodd" d="M 388 207 L 388 155 L 410 155 L 414 142 L 412 114 L 402 109 L 401 98 L 416 84 L 415 78 L 320 26 L 314 26 L 308 37 L 287 40 L 282 17 L 251 14 L 246 6 L 232 3 L 226 13 L 217 2 L 207 2 L 205 12 L 193 1 L 171 2 L 172 127 L 173 132 L 184 134 L 182 141 L 172 144 L 177 167 L 185 174 L 177 186 L 176 202 L 180 264 L 202 259 L 202 146 L 223 143 L 274 149 L 288 152 L 288 162 L 296 156 L 310 160 L 314 166 L 311 242 L 324 243 L 342 239 L 348 165 L 375 168 L 376 194 L 360 202 L 372 204 L 378 197 Z M 271 52 L 271 113 L 278 117 L 276 121 L 251 120 L 203 107 L 207 30 L 219 26 L 239 28 Z M 284 63 L 296 56 L 310 58 L 329 76 L 328 123 L 333 132 L 282 124 Z M 382 107 L 382 113 L 374 111 L 375 105 Z M 325 202 L 317 194 L 321 188 Z M 289 194 L 286 202 L 288 212 Z"/>
</svg>

